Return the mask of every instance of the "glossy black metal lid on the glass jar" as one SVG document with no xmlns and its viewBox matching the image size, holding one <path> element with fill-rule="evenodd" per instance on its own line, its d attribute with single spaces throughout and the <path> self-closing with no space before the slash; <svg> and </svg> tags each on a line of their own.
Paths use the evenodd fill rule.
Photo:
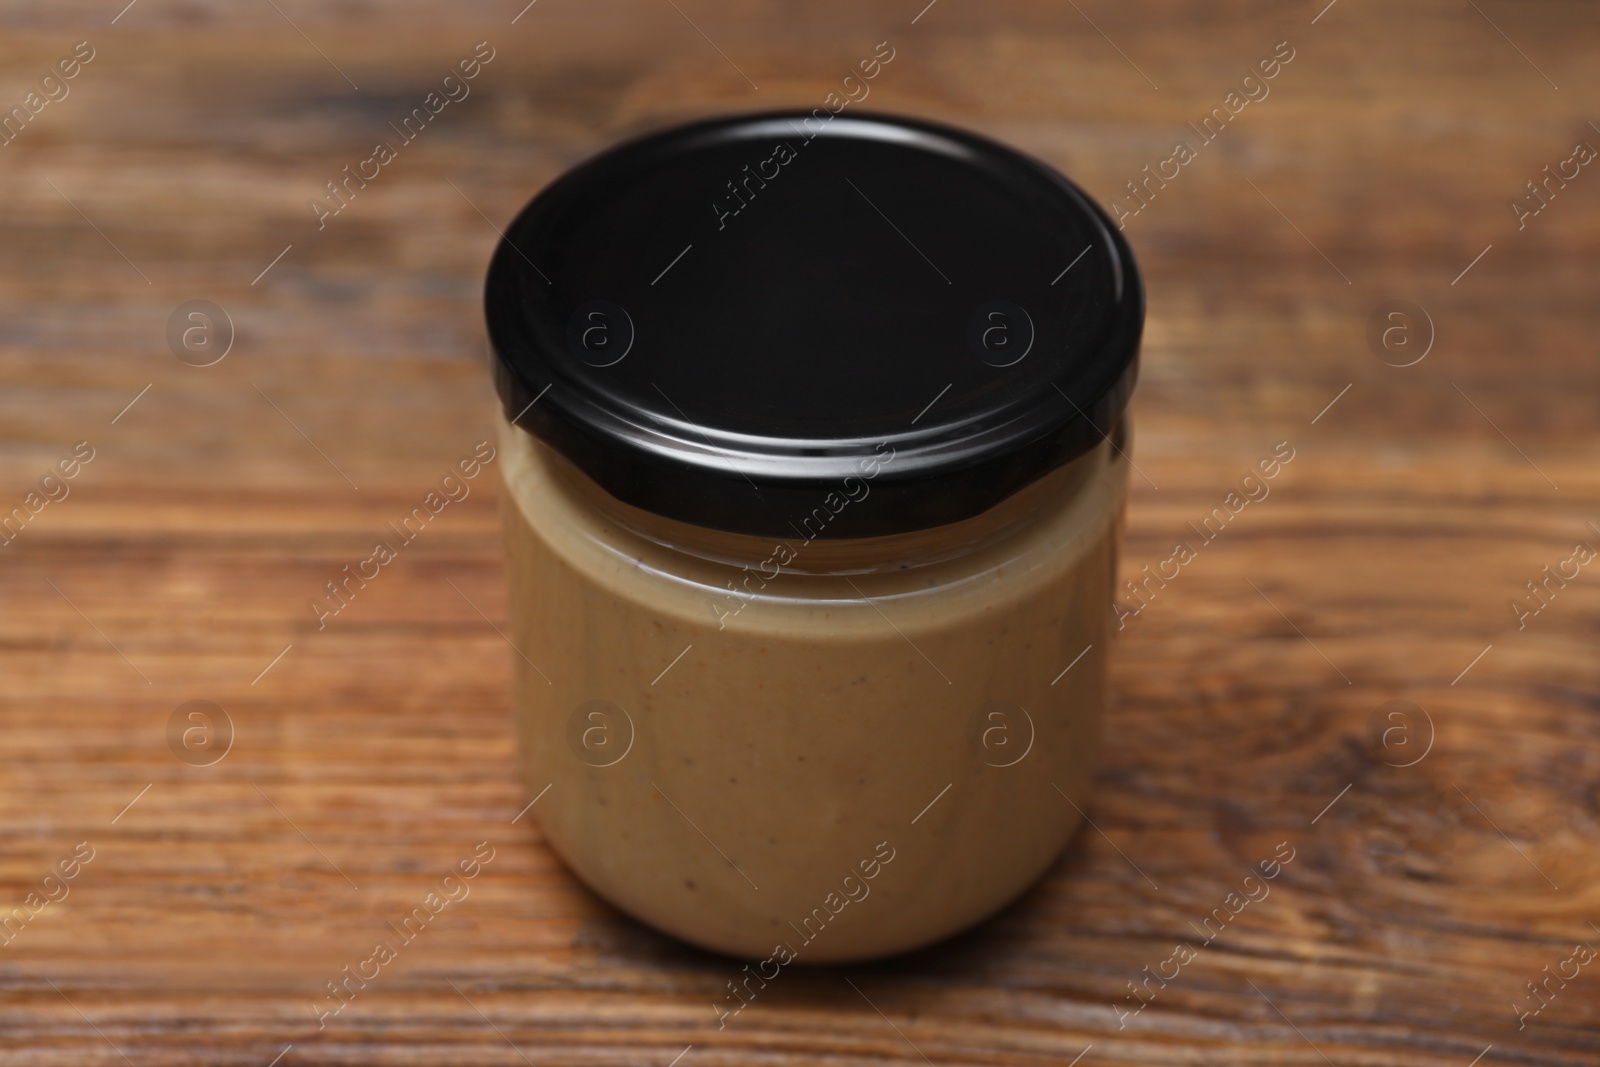
<svg viewBox="0 0 1600 1067">
<path fill-rule="evenodd" d="M 506 416 L 686 523 L 861 537 L 976 515 L 1110 432 L 1144 290 L 1077 186 L 994 141 L 827 110 L 568 171 L 485 286 Z M 866 486 L 866 488 L 862 488 Z"/>
</svg>

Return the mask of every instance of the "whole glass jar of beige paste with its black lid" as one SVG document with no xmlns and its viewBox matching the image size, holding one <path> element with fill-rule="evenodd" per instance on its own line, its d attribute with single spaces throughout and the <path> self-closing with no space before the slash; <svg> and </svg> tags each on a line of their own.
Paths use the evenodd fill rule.
<svg viewBox="0 0 1600 1067">
<path fill-rule="evenodd" d="M 520 755 L 573 872 L 778 963 L 1034 883 L 1114 621 L 1144 296 L 1106 214 L 968 133 L 723 118 L 546 189 L 486 314 Z"/>
</svg>

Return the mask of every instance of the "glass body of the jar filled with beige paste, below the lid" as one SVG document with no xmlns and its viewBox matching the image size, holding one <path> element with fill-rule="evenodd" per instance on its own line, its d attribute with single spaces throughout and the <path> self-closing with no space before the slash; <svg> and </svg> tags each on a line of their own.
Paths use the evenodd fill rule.
<svg viewBox="0 0 1600 1067">
<path fill-rule="evenodd" d="M 1106 691 L 1109 443 L 974 520 L 797 537 L 762 587 L 773 539 L 645 515 L 501 440 L 526 785 L 600 896 L 706 949 L 826 963 L 955 933 L 1051 864 Z"/>
</svg>

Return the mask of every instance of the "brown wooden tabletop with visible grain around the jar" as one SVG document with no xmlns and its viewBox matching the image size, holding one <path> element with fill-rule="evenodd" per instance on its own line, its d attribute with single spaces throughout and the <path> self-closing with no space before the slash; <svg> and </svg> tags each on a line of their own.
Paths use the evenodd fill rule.
<svg viewBox="0 0 1600 1067">
<path fill-rule="evenodd" d="M 0 947 L 0 1064 L 1600 1061 L 1597 577 L 1509 606 L 1600 547 L 1600 174 L 1509 208 L 1600 146 L 1592 8 L 120 3 L 0 16 L 0 102 L 94 51 L 0 147 L 0 506 L 94 453 L 0 547 L 0 909 L 67 893 Z M 1106 203 L 1288 42 L 1126 219 L 1125 576 L 1294 461 L 1122 633 L 1096 829 L 1042 885 L 718 1030 L 738 965 L 514 819 L 493 478 L 325 630 L 307 600 L 490 434 L 496 224 L 624 134 L 818 106 L 883 40 L 870 106 Z M 318 230 L 307 202 L 477 42 L 472 94 Z M 211 366 L 170 350 L 187 301 L 232 323 Z M 1432 323 L 1410 366 L 1416 310 L 1379 323 L 1410 347 L 1368 341 L 1389 301 Z M 170 744 L 189 701 L 232 723 L 211 765 Z M 323 982 L 478 841 L 470 897 L 318 1030 Z"/>
</svg>

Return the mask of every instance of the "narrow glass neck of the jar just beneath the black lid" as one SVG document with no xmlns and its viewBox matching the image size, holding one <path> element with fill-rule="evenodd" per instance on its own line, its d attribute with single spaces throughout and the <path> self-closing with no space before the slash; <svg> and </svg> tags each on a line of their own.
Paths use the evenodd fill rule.
<svg viewBox="0 0 1600 1067">
<path fill-rule="evenodd" d="M 525 434 L 520 429 L 517 432 Z M 1122 448 L 1123 434 L 1123 426 L 1118 426 L 1112 438 L 1102 440 L 1099 446 L 979 515 L 944 526 L 878 537 L 810 537 L 805 533 L 810 515 L 797 517 L 792 523 L 794 537 L 728 533 L 664 518 L 616 499 L 570 459 L 538 438 L 530 442 L 562 493 L 621 530 L 672 552 L 710 563 L 760 568 L 768 576 L 776 576 L 906 571 L 986 549 L 1022 533 L 1082 493 L 1110 462 L 1112 446 Z M 850 507 L 850 502 L 846 501 L 843 507 Z"/>
</svg>

